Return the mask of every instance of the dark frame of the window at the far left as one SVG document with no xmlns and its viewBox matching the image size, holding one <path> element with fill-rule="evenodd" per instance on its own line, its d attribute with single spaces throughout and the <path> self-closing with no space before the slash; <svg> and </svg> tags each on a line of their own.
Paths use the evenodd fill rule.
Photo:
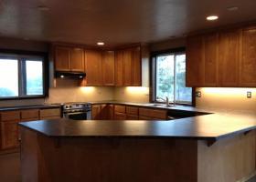
<svg viewBox="0 0 256 182">
<path fill-rule="evenodd" d="M 18 96 L 6 96 L 0 97 L 0 100 L 21 100 L 21 99 L 35 99 L 35 98 L 45 98 L 48 96 L 48 53 L 46 52 L 37 52 L 37 51 L 24 51 L 24 50 L 12 50 L 12 49 L 0 49 L 0 56 L 12 57 L 18 59 Z M 43 94 L 42 95 L 24 95 L 24 88 L 26 86 L 26 72 L 22 73 L 22 66 L 25 66 L 26 63 L 22 58 L 27 58 L 26 60 L 40 57 L 42 58 L 43 64 Z M 23 76 L 22 76 L 23 75 Z M 25 85 L 24 85 L 25 84 Z"/>
</svg>

